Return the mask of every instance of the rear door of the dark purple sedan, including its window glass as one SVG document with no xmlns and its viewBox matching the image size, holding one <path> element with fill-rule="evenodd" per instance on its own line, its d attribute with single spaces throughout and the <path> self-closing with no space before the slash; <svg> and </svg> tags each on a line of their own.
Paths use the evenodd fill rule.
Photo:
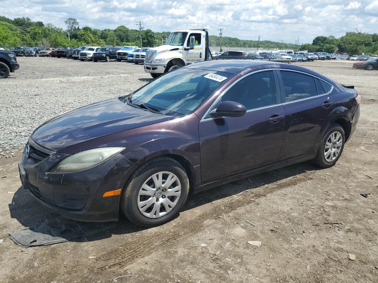
<svg viewBox="0 0 378 283">
<path fill-rule="evenodd" d="M 280 159 L 306 154 L 321 138 L 335 108 L 332 85 L 309 74 L 279 71 L 281 100 L 285 111 Z"/>
</svg>

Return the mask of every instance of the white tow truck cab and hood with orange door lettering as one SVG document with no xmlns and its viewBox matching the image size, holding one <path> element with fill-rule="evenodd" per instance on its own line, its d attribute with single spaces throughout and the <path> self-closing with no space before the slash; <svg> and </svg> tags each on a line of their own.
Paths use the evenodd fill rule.
<svg viewBox="0 0 378 283">
<path fill-rule="evenodd" d="M 146 52 L 144 71 L 156 78 L 181 66 L 210 60 L 209 35 L 206 29 L 171 32 L 166 45 Z"/>
</svg>

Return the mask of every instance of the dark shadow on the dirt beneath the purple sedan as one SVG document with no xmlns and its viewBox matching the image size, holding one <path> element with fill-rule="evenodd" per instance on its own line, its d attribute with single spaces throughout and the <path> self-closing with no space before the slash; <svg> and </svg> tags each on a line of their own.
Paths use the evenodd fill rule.
<svg viewBox="0 0 378 283">
<path fill-rule="evenodd" d="M 251 177 L 217 186 L 198 194 L 189 195 L 181 212 L 196 208 L 206 203 L 211 203 L 212 201 L 239 194 L 240 192 L 243 192 L 247 189 L 259 188 L 261 186 L 268 185 L 288 177 L 316 170 L 319 170 L 319 168 L 311 165 L 309 162 L 302 162 L 280 169 L 264 172 L 258 175 L 252 175 Z M 29 227 L 31 231 L 34 231 L 34 226 L 40 225 L 45 220 L 59 217 L 58 214 L 51 212 L 36 200 L 34 200 L 34 198 L 29 194 L 28 190 L 23 189 L 22 186 L 15 192 L 12 198 L 12 203 L 10 203 L 8 206 L 11 218 L 15 218 L 17 221 L 19 221 L 20 225 L 22 225 L 23 227 Z M 81 221 L 77 221 L 77 223 L 80 224 Z M 85 225 L 87 231 L 90 231 L 91 225 L 93 226 L 93 229 L 99 228 L 99 223 L 85 223 Z M 115 226 L 105 228 L 105 230 L 102 230 L 101 232 L 98 232 L 96 234 L 74 238 L 69 241 L 96 241 L 104 238 L 110 238 L 112 237 L 112 235 L 129 234 L 133 232 L 143 231 L 145 229 L 149 228 L 142 228 L 134 225 L 120 212 L 119 219 L 116 222 Z"/>
</svg>

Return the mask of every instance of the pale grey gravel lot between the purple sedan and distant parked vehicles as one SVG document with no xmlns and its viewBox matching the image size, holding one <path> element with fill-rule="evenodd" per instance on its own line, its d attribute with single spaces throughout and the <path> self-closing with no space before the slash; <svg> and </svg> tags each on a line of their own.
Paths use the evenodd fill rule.
<svg viewBox="0 0 378 283">
<path fill-rule="evenodd" d="M 37 126 L 63 112 L 128 94 L 151 80 L 143 65 L 18 57 L 0 80 L 0 150 L 20 148 Z"/>
</svg>

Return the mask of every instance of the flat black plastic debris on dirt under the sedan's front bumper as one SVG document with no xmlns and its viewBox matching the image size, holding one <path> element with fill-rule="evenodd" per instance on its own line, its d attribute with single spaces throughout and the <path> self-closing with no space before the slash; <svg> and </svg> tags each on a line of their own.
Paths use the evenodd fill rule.
<svg viewBox="0 0 378 283">
<path fill-rule="evenodd" d="M 45 220 L 32 228 L 17 229 L 10 233 L 11 239 L 19 246 L 46 246 L 69 240 L 86 237 L 107 230 L 118 223 L 113 222 L 80 222 L 62 216 Z"/>
</svg>

